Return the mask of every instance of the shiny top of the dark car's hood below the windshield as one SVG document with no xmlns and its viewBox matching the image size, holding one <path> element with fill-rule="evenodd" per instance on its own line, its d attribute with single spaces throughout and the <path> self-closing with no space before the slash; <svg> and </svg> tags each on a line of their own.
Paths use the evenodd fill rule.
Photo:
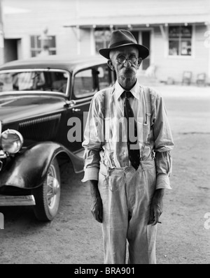
<svg viewBox="0 0 210 278">
<path fill-rule="evenodd" d="M 64 109 L 64 98 L 44 95 L 0 96 L 0 120 L 3 124 L 47 115 Z"/>
</svg>

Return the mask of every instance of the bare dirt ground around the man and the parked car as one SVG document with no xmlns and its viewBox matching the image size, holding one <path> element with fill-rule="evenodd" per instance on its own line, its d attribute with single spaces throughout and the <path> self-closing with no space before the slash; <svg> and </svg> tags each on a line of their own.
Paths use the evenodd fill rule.
<svg viewBox="0 0 210 278">
<path fill-rule="evenodd" d="M 209 264 L 210 89 L 159 87 L 174 135 L 172 190 L 164 197 L 158 224 L 158 264 Z M 62 196 L 54 221 L 36 221 L 31 207 L 0 207 L 1 264 L 101 264 L 101 225 L 90 213 L 89 186 L 68 166 L 62 170 Z M 209 225 L 210 226 L 210 225 Z"/>
</svg>

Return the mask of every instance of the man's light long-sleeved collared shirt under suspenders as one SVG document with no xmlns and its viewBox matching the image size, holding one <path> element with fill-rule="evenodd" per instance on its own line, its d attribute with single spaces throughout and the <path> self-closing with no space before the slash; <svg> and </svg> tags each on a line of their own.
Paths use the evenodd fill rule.
<svg viewBox="0 0 210 278">
<path fill-rule="evenodd" d="M 151 113 L 146 111 L 144 87 L 141 87 L 137 81 L 130 90 L 133 95 L 130 98 L 130 105 L 137 121 L 140 159 L 145 161 L 155 158 L 156 189 L 171 189 L 169 177 L 172 173 L 172 156 L 170 151 L 174 147 L 172 132 L 162 96 L 154 89 L 148 89 Z M 83 141 L 85 175 L 82 182 L 98 180 L 100 163 L 110 168 L 131 166 L 127 150 L 125 99 L 121 97 L 125 89 L 116 81 L 111 90 L 109 134 L 104 134 L 105 91 L 106 89 L 103 89 L 94 94 L 90 104 Z M 107 132 L 108 129 L 105 129 L 105 133 Z M 108 140 L 104 140 L 107 138 Z"/>
</svg>

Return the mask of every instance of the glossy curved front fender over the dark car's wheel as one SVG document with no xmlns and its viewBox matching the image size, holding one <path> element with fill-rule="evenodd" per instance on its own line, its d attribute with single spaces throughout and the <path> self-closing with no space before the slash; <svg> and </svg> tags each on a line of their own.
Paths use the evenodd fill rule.
<svg viewBox="0 0 210 278">
<path fill-rule="evenodd" d="M 15 186 L 33 189 L 43 184 L 51 161 L 60 153 L 66 153 L 72 161 L 74 171 L 79 172 L 83 159 L 55 142 L 41 142 L 15 156 L 0 172 L 0 187 Z"/>
</svg>

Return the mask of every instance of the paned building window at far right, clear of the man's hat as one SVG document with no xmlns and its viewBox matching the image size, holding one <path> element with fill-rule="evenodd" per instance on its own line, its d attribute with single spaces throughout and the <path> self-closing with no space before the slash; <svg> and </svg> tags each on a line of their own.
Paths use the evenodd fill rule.
<svg viewBox="0 0 210 278">
<path fill-rule="evenodd" d="M 192 54 L 192 26 L 169 27 L 169 55 L 190 56 Z"/>
</svg>

